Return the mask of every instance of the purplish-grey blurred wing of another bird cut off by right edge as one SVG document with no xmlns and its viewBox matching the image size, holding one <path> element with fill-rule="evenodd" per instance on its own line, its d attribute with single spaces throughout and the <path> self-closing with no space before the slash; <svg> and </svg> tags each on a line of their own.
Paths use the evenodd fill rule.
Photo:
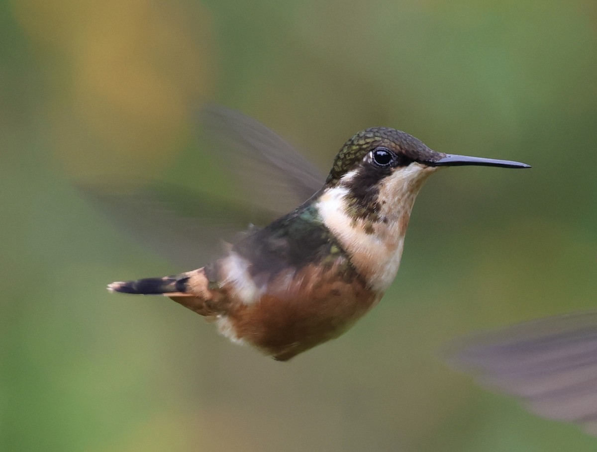
<svg viewBox="0 0 597 452">
<path fill-rule="evenodd" d="M 539 416 L 597 436 L 597 311 L 544 318 L 458 340 L 448 361 Z"/>
</svg>

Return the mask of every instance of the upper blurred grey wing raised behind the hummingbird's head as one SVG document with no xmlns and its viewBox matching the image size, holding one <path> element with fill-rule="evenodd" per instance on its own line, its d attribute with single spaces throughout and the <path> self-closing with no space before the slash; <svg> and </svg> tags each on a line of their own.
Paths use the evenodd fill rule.
<svg viewBox="0 0 597 452">
<path fill-rule="evenodd" d="M 200 122 L 213 138 L 208 151 L 226 162 L 255 205 L 282 215 L 309 199 L 325 175 L 261 123 L 234 110 L 209 106 Z"/>
</svg>

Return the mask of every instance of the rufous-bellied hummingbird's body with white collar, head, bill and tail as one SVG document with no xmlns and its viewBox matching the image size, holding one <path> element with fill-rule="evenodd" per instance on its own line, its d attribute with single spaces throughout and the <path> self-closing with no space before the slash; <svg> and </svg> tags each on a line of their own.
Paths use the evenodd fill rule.
<svg viewBox="0 0 597 452">
<path fill-rule="evenodd" d="M 414 200 L 433 172 L 530 168 L 436 152 L 405 132 L 374 127 L 341 147 L 325 182 L 313 189 L 319 178 L 284 140 L 238 113 L 217 115 L 246 129 L 245 147 L 286 173 L 295 193 L 308 199 L 264 228 L 251 227 L 204 267 L 107 288 L 164 294 L 216 323 L 233 342 L 279 361 L 337 338 L 380 301 L 398 272 Z"/>
</svg>

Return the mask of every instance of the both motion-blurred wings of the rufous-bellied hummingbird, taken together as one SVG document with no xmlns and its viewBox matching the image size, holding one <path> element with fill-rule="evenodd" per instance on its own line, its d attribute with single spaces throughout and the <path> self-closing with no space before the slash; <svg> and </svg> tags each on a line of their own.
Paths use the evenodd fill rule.
<svg viewBox="0 0 597 452">
<path fill-rule="evenodd" d="M 216 258 L 222 241 L 290 212 L 325 181 L 290 144 L 250 117 L 210 106 L 199 125 L 213 138 L 205 151 L 232 173 L 235 198 L 153 182 L 78 184 L 116 228 L 184 268 Z"/>
</svg>

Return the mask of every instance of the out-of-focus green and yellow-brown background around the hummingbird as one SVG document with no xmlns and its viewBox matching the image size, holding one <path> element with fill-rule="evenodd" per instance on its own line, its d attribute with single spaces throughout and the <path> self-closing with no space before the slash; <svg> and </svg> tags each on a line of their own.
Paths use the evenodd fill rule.
<svg viewBox="0 0 597 452">
<path fill-rule="evenodd" d="M 14 0 L 0 36 L 1 450 L 595 450 L 439 353 L 596 305 L 594 1 Z M 104 289 L 189 269 L 73 181 L 230 190 L 190 100 L 255 117 L 325 170 L 373 125 L 533 169 L 434 175 L 381 304 L 276 363 L 170 301 Z"/>
</svg>

